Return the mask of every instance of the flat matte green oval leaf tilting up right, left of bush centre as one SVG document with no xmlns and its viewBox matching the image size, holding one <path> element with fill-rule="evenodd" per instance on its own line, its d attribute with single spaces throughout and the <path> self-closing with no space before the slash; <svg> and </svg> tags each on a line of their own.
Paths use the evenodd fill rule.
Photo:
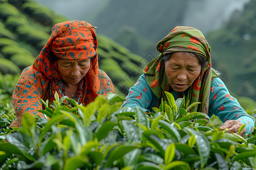
<svg viewBox="0 0 256 170">
<path fill-rule="evenodd" d="M 109 131 L 112 130 L 115 126 L 115 122 L 112 121 L 106 121 L 104 122 L 100 128 L 96 130 L 96 137 L 98 138 L 98 141 L 101 141 L 104 139 L 108 134 Z"/>
</svg>

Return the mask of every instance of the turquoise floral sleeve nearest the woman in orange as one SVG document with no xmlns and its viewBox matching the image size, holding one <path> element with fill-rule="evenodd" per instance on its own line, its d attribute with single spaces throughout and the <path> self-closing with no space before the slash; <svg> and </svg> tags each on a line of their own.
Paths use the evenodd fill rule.
<svg viewBox="0 0 256 170">
<path fill-rule="evenodd" d="M 142 74 L 133 87 L 129 89 L 129 93 L 125 98 L 122 107 L 139 107 L 143 112 L 150 112 L 153 96 L 144 74 Z"/>
</svg>

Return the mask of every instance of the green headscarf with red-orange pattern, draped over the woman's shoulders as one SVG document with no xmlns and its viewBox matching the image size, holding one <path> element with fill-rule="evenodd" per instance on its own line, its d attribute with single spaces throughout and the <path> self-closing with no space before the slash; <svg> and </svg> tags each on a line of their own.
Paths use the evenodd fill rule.
<svg viewBox="0 0 256 170">
<path fill-rule="evenodd" d="M 210 82 L 217 75 L 212 70 L 210 60 L 210 46 L 205 40 L 201 31 L 192 27 L 175 27 L 166 37 L 158 42 L 156 49 L 160 52 L 159 56 L 150 61 L 143 72 L 146 74 L 147 83 L 152 92 L 160 99 L 164 96 L 164 91 L 170 89 L 164 71 L 164 54 L 174 52 L 192 52 L 205 58 L 207 65 L 202 68 L 201 74 L 188 88 L 186 103 L 199 101 L 201 104 L 191 109 L 191 112 L 208 113 Z"/>
</svg>

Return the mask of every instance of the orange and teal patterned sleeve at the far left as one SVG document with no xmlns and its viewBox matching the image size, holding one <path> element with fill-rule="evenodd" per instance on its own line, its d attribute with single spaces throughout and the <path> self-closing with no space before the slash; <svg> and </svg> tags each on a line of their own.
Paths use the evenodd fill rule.
<svg viewBox="0 0 256 170">
<path fill-rule="evenodd" d="M 22 114 L 30 113 L 32 115 L 43 116 L 38 110 L 42 109 L 42 88 L 35 78 L 32 67 L 24 69 L 18 83 L 15 86 L 11 104 L 13 104 L 16 120 L 12 122 L 11 127 L 21 126 Z"/>
</svg>

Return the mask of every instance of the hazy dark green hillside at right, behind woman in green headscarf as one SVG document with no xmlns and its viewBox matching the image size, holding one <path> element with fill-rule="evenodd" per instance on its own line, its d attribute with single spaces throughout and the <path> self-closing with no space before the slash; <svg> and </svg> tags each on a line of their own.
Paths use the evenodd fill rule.
<svg viewBox="0 0 256 170">
<path fill-rule="evenodd" d="M 221 29 L 208 35 L 213 65 L 224 73 L 226 85 L 237 95 L 256 99 L 256 1 L 236 11 Z"/>
</svg>

